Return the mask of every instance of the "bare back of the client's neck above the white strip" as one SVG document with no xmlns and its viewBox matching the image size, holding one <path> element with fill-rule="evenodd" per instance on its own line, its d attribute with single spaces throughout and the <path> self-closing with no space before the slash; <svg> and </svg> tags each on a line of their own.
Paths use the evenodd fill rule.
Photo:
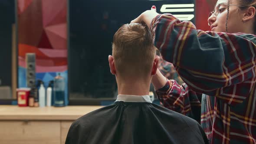
<svg viewBox="0 0 256 144">
<path fill-rule="evenodd" d="M 140 81 L 125 81 L 118 82 L 118 95 L 148 95 L 149 94 L 149 82 L 140 82 Z"/>
</svg>

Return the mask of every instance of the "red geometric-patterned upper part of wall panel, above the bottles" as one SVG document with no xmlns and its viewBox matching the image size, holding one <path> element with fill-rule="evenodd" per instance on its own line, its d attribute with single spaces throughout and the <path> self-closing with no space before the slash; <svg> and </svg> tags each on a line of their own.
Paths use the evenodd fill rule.
<svg viewBox="0 0 256 144">
<path fill-rule="evenodd" d="M 36 72 L 67 70 L 67 1 L 17 0 L 19 66 L 36 53 Z"/>
</svg>

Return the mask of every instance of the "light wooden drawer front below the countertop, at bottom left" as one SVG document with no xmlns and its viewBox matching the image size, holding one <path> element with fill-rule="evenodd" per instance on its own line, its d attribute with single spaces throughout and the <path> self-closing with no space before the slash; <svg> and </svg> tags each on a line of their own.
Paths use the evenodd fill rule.
<svg viewBox="0 0 256 144">
<path fill-rule="evenodd" d="M 0 144 L 60 144 L 60 121 L 0 121 Z"/>
</svg>

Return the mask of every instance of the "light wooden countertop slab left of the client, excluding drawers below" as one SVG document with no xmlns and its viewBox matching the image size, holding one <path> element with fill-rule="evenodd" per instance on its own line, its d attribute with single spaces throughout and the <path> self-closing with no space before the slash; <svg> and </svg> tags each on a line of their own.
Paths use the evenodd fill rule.
<svg viewBox="0 0 256 144">
<path fill-rule="evenodd" d="M 102 106 L 67 106 L 30 108 L 0 105 L 0 120 L 71 120 L 94 111 Z"/>
</svg>

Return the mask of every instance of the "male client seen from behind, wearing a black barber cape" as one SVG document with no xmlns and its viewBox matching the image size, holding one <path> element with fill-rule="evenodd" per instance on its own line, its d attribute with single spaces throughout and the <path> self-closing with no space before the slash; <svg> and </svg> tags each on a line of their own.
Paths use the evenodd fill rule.
<svg viewBox="0 0 256 144">
<path fill-rule="evenodd" d="M 197 121 L 152 104 L 149 87 L 159 56 L 148 27 L 125 24 L 108 56 L 118 96 L 114 105 L 82 116 L 69 128 L 66 144 L 207 144 Z"/>
</svg>

